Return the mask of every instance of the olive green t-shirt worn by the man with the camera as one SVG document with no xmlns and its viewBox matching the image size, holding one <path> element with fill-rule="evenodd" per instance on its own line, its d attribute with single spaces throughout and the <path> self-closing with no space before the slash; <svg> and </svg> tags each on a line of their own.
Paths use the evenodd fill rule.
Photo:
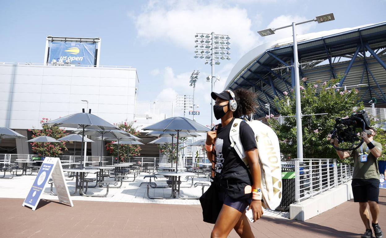
<svg viewBox="0 0 386 238">
<path fill-rule="evenodd" d="M 372 141 L 372 144 L 382 152 L 382 145 L 379 142 Z M 359 154 L 361 154 L 361 147 L 355 151 L 347 151 L 352 157 L 354 157 L 354 173 L 352 175 L 353 179 L 378 179 L 379 180 L 379 169 L 378 161 L 374 155 L 371 154 L 371 151 L 367 149 L 365 142 L 362 144 L 362 151 L 367 152 L 367 162 L 361 162 Z"/>
</svg>

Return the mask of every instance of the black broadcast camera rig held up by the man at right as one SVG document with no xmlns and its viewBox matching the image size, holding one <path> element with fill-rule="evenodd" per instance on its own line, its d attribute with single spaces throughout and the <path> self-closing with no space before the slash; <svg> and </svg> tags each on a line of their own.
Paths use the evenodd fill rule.
<svg viewBox="0 0 386 238">
<path fill-rule="evenodd" d="M 353 146 L 350 148 L 340 148 L 331 143 L 332 146 L 337 150 L 356 150 L 358 149 L 364 139 L 358 136 L 357 129 L 360 128 L 361 132 L 366 131 L 370 127 L 370 118 L 367 115 L 366 111 L 357 111 L 351 114 L 349 118 L 339 118 L 335 119 L 334 130 L 331 132 L 331 138 L 337 138 L 338 143 L 349 142 L 353 143 Z M 355 142 L 360 141 L 356 147 L 354 147 Z"/>
</svg>

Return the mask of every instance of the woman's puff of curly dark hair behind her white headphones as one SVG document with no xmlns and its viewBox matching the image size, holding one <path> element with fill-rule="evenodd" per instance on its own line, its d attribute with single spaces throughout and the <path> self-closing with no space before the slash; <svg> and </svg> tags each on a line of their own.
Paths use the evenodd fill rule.
<svg viewBox="0 0 386 238">
<path fill-rule="evenodd" d="M 256 98 L 255 93 L 245 88 L 239 88 L 233 92 L 237 102 L 237 109 L 233 112 L 235 118 L 249 116 L 251 113 L 255 113 L 257 107 L 256 102 L 254 101 Z"/>
</svg>

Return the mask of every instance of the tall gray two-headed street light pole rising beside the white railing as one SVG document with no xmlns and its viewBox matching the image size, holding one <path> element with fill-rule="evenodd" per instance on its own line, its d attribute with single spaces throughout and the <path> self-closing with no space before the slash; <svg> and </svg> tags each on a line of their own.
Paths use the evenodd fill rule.
<svg viewBox="0 0 386 238">
<path fill-rule="evenodd" d="M 300 103 L 300 81 L 299 81 L 299 61 L 298 61 L 298 42 L 296 41 L 296 25 L 308 23 L 308 22 L 328 22 L 335 20 L 334 14 L 325 14 L 315 17 L 312 20 L 306 20 L 304 22 L 292 22 L 291 25 L 286 25 L 284 27 L 279 28 L 269 28 L 266 30 L 260 30 L 257 33 L 261 36 L 267 36 L 275 34 L 276 30 L 280 30 L 287 27 L 292 27 L 292 34 L 293 34 L 293 58 L 294 63 L 291 66 L 295 69 L 295 100 L 296 100 L 296 137 L 297 137 L 297 147 L 298 147 L 298 159 L 303 159 L 303 132 L 302 132 L 302 126 L 301 126 L 301 103 Z"/>
</svg>

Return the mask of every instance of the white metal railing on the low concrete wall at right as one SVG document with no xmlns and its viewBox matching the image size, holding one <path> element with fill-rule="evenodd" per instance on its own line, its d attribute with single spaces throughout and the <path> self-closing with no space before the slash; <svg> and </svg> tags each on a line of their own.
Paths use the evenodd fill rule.
<svg viewBox="0 0 386 238">
<path fill-rule="evenodd" d="M 353 167 L 337 163 L 337 159 L 295 159 L 293 163 L 296 202 L 321 194 L 352 179 Z"/>
</svg>

